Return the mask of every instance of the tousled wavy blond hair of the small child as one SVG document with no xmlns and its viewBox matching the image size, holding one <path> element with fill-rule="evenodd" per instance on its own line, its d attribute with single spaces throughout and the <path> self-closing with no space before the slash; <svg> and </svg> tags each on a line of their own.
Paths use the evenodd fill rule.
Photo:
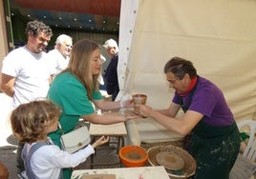
<svg viewBox="0 0 256 179">
<path fill-rule="evenodd" d="M 22 104 L 11 112 L 11 129 L 20 141 L 32 143 L 43 138 L 46 130 L 61 114 L 50 100 Z"/>
</svg>

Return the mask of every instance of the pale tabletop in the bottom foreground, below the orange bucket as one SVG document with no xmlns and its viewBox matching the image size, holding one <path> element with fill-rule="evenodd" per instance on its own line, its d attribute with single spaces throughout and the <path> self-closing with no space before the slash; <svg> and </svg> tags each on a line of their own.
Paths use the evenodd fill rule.
<svg viewBox="0 0 256 179">
<path fill-rule="evenodd" d="M 81 179 L 89 174 L 116 174 L 116 179 L 169 179 L 169 175 L 162 166 L 118 169 L 77 169 L 71 179 Z"/>
</svg>

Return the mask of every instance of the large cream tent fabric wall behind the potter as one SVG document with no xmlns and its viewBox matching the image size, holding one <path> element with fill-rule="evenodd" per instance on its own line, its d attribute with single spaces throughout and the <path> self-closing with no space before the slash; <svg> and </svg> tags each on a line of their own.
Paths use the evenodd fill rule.
<svg viewBox="0 0 256 179">
<path fill-rule="evenodd" d="M 253 119 L 256 1 L 122 0 L 119 49 L 117 97 L 145 93 L 147 105 L 167 108 L 163 66 L 180 56 L 223 90 L 237 121 Z"/>
</svg>

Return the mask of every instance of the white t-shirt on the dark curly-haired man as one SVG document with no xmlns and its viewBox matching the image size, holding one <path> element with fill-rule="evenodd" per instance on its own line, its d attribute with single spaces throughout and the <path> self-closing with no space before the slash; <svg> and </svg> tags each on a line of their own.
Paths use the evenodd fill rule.
<svg viewBox="0 0 256 179">
<path fill-rule="evenodd" d="M 54 73 L 45 52 L 33 53 L 25 46 L 12 50 L 3 60 L 2 73 L 15 77 L 13 107 L 45 98 Z"/>
</svg>

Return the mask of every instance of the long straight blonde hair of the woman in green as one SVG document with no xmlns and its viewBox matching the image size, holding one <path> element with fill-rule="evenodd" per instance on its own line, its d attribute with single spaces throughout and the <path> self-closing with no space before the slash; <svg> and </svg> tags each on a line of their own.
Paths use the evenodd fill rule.
<svg viewBox="0 0 256 179">
<path fill-rule="evenodd" d="M 93 100 L 93 91 L 98 89 L 99 83 L 97 77 L 99 74 L 93 75 L 91 64 L 92 55 L 95 50 L 99 50 L 98 45 L 88 39 L 82 39 L 75 42 L 71 51 L 71 59 L 67 70 L 70 71 L 87 89 L 87 95 Z"/>
</svg>

